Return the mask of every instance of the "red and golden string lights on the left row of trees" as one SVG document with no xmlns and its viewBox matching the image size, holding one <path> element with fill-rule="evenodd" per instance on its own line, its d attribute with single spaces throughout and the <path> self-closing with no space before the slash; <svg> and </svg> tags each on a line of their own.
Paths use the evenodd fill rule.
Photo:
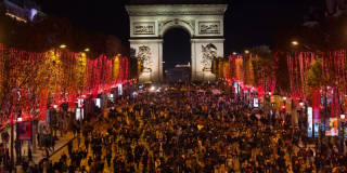
<svg viewBox="0 0 347 173">
<path fill-rule="evenodd" d="M 119 63 L 113 64 L 115 58 Z M 12 102 L 12 107 L 9 107 L 11 110 L 2 112 L 3 116 L 0 117 L 0 129 L 10 122 L 9 117 L 17 114 L 17 108 L 22 108 L 23 121 L 40 116 L 43 120 L 48 103 L 55 103 L 59 109 L 62 103 L 74 103 L 77 93 L 82 95 L 100 89 L 110 92 L 112 85 L 123 83 L 130 74 L 128 57 L 113 59 L 107 59 L 104 55 L 92 59 L 86 53 L 60 49 L 44 53 L 25 52 L 0 43 L 0 90 L 17 91 L 1 95 L 13 99 L 8 101 Z M 113 72 L 113 69 L 118 70 Z M 7 79 L 10 82 L 3 84 Z M 75 103 L 72 105 L 75 107 Z"/>
</svg>

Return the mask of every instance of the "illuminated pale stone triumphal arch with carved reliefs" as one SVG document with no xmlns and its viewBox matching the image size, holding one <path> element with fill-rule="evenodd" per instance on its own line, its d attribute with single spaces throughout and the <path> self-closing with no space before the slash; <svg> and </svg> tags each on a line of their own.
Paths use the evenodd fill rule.
<svg viewBox="0 0 347 173">
<path fill-rule="evenodd" d="M 216 81 L 211 64 L 223 55 L 227 8 L 222 0 L 130 0 L 130 54 L 143 68 L 139 83 L 163 82 L 163 37 L 176 27 L 191 36 L 192 81 Z"/>
</svg>

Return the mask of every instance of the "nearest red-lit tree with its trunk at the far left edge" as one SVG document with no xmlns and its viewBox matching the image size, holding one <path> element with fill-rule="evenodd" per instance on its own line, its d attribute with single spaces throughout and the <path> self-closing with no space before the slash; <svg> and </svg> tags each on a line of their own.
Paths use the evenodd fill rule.
<svg viewBox="0 0 347 173">
<path fill-rule="evenodd" d="M 46 58 L 43 54 L 33 55 L 28 52 L 18 51 L 15 49 L 8 49 L 2 46 L 0 53 L 0 109 L 4 115 L 9 116 L 8 119 L 14 119 L 23 108 L 35 107 L 30 105 L 29 101 L 24 95 L 28 95 L 30 90 L 30 97 L 37 97 L 38 84 L 44 82 L 48 74 L 47 68 L 42 68 Z M 38 74 L 46 74 L 42 79 L 38 79 Z M 28 110 L 28 108 L 26 108 Z M 26 112 L 23 112 L 26 114 Z M 11 156 L 13 155 L 13 121 L 11 121 Z M 13 157 L 11 157 L 13 163 Z"/>
</svg>

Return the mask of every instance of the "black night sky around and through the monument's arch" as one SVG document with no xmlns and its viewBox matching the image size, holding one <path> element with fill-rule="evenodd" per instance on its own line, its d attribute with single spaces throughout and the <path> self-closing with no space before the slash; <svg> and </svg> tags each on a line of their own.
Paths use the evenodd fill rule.
<svg viewBox="0 0 347 173">
<path fill-rule="evenodd" d="M 37 0 L 46 14 L 66 17 L 73 27 L 112 34 L 129 45 L 127 0 Z M 272 46 L 272 30 L 279 25 L 301 24 L 309 6 L 325 0 L 224 0 L 224 54 L 243 52 L 257 45 Z M 189 35 L 172 29 L 164 38 L 164 61 L 187 64 L 190 59 Z M 180 52 L 178 52 L 180 50 Z"/>
</svg>

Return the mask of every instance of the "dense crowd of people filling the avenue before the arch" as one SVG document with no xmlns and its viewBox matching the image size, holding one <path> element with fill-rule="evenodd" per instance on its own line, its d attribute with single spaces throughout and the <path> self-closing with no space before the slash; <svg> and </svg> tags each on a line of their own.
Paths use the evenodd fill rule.
<svg viewBox="0 0 347 173">
<path fill-rule="evenodd" d="M 239 95 L 143 96 L 121 111 L 111 109 L 106 128 L 83 133 L 85 145 L 60 161 L 28 170 L 99 173 L 346 173 L 347 157 L 319 141 L 308 145 L 307 123 L 290 115 L 249 111 Z M 105 119 L 105 120 L 104 120 Z M 305 118 L 300 118 L 301 120 Z"/>
</svg>

